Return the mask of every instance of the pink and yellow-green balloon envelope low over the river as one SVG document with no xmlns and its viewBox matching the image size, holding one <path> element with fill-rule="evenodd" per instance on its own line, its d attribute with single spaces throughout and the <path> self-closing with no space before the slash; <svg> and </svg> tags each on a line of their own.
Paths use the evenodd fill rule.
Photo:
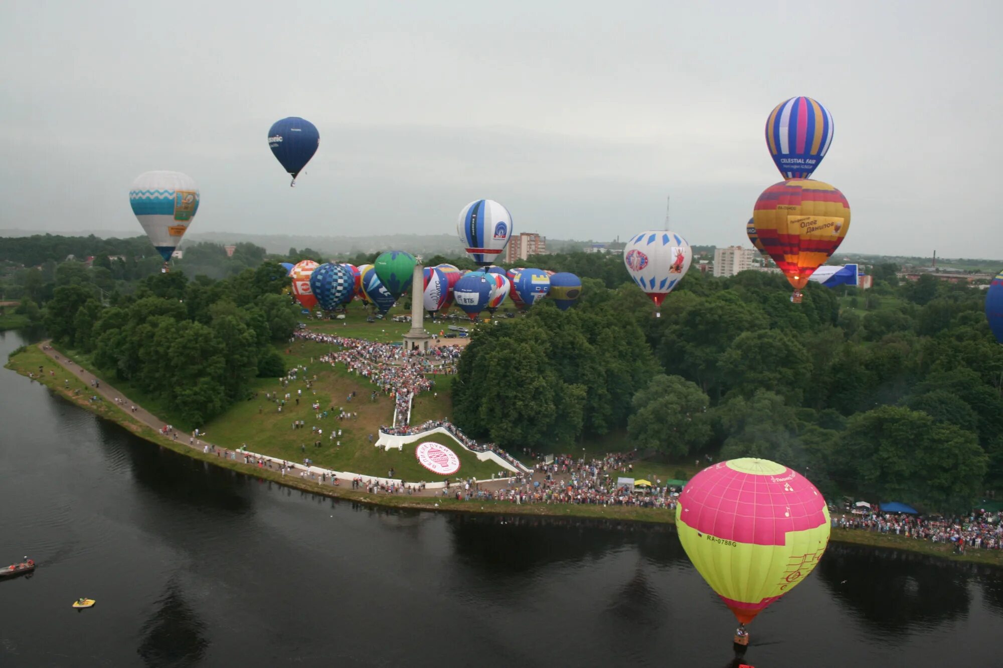
<svg viewBox="0 0 1003 668">
<path fill-rule="evenodd" d="M 805 477 L 766 459 L 731 459 L 686 483 L 679 542 L 743 626 L 811 573 L 828 545 L 825 499 Z"/>
</svg>

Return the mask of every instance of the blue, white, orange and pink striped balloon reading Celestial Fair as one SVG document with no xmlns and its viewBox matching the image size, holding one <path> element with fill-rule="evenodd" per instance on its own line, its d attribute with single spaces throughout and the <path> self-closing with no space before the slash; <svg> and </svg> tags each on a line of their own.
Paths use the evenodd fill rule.
<svg viewBox="0 0 1003 668">
<path fill-rule="evenodd" d="M 832 116 L 810 97 L 780 102 L 766 119 L 766 146 L 784 179 L 809 179 L 832 141 Z"/>
</svg>

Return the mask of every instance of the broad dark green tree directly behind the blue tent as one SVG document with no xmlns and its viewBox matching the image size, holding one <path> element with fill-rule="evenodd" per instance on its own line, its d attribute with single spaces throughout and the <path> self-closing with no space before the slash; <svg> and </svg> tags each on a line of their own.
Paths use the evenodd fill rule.
<svg viewBox="0 0 1003 668">
<path fill-rule="evenodd" d="M 988 457 L 974 433 L 902 406 L 854 415 L 843 438 L 862 491 L 931 512 L 964 512 L 982 492 Z"/>
</svg>

